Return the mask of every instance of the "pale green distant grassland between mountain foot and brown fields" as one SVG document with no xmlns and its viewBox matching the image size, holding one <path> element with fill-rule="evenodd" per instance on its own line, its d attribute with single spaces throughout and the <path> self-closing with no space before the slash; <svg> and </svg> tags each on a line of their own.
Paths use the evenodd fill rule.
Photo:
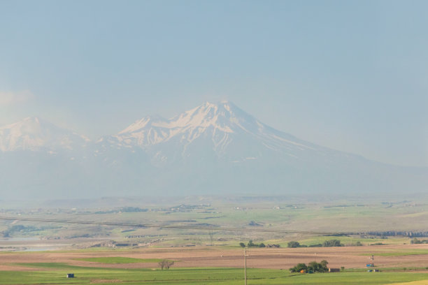
<svg viewBox="0 0 428 285">
<path fill-rule="evenodd" d="M 73 219 L 81 221 L 114 221 L 130 224 L 164 224 L 180 226 L 211 227 L 208 231 L 173 228 L 142 228 L 132 226 L 95 226 L 76 224 L 39 223 L 34 221 L 0 221 L 0 237 L 36 237 L 43 239 L 110 239 L 116 242 L 150 244 L 150 246 L 207 245 L 237 246 L 249 240 L 265 244 L 275 243 L 282 247 L 291 240 L 311 245 L 322 243 L 328 237 L 311 235 L 231 232 L 216 230 L 216 227 L 280 229 L 292 231 L 425 231 L 428 228 L 428 201 L 383 202 L 371 200 L 324 201 L 309 203 L 290 201 L 285 198 L 206 198 L 199 200 L 177 200 L 170 204 L 143 204 L 135 201 L 134 206 L 144 212 L 123 212 L 121 207 L 111 205 L 102 208 L 58 208 L 56 210 L 26 209 L 8 210 L 6 215 L 20 214 L 21 217 Z M 141 204 L 140 204 L 141 203 Z M 1 210 L 1 209 L 0 209 Z M 138 236 L 138 238 L 127 238 Z M 334 237 L 331 237 L 334 238 Z M 330 239 L 331 239 L 330 238 Z M 337 237 L 345 245 L 361 242 L 364 246 L 409 243 L 410 238 L 373 238 L 364 236 Z M 76 242 L 77 243 L 77 242 Z M 83 246 L 91 246 L 84 244 Z"/>
</svg>

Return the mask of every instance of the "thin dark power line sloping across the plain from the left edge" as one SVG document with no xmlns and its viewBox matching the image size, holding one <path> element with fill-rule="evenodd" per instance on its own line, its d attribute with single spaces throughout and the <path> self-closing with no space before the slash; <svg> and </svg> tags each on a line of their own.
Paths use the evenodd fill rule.
<svg viewBox="0 0 428 285">
<path fill-rule="evenodd" d="M 134 224 L 134 223 L 120 223 L 110 221 L 76 221 L 76 220 L 62 220 L 62 219 L 38 219 L 26 217 L 4 217 L 0 216 L 2 220 L 13 221 L 38 221 L 45 223 L 64 223 L 64 224 L 87 224 L 99 226 L 129 226 L 135 228 L 178 228 L 178 229 L 192 229 L 192 230 L 206 230 L 206 231 L 240 231 L 240 232 L 259 232 L 259 233 L 301 233 L 313 235 L 370 235 L 369 233 L 352 233 L 352 232 L 331 232 L 331 231 L 292 231 L 280 230 L 271 228 L 231 228 L 231 227 L 208 227 L 208 226 L 192 226 L 192 225 L 160 225 L 160 224 Z"/>
</svg>

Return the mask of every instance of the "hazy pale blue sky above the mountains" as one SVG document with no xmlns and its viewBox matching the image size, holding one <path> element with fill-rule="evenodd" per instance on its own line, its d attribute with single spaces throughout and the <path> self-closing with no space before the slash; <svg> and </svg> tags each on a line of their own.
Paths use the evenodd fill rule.
<svg viewBox="0 0 428 285">
<path fill-rule="evenodd" d="M 428 166 L 427 1 L 0 0 L 0 126 L 90 138 L 232 101 L 318 145 Z"/>
</svg>

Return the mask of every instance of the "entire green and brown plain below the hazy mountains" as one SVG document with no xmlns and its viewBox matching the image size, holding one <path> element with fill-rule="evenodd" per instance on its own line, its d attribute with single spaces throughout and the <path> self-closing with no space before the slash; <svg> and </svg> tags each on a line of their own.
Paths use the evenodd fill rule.
<svg viewBox="0 0 428 285">
<path fill-rule="evenodd" d="M 248 284 L 428 284 L 428 244 L 412 244 L 413 235 L 426 240 L 428 206 L 420 201 L 299 203 L 232 198 L 173 203 L 5 208 L 2 215 L 9 217 L 199 229 L 2 221 L 0 284 L 243 284 L 244 257 L 239 243 L 250 240 L 266 247 L 248 248 Z M 267 233 L 265 229 L 313 233 Z M 355 234 L 343 235 L 343 231 Z M 311 247 L 331 239 L 340 240 L 343 246 Z M 290 241 L 305 247 L 287 248 Z M 380 272 L 367 272 L 371 256 Z M 161 270 L 158 263 L 162 260 L 174 263 L 169 270 Z M 289 270 L 297 263 L 322 260 L 341 271 L 301 274 Z M 76 277 L 67 279 L 67 273 Z"/>
</svg>

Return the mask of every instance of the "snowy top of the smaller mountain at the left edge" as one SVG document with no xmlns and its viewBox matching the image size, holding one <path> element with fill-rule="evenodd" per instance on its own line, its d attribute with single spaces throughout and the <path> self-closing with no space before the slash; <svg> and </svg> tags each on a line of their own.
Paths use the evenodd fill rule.
<svg viewBox="0 0 428 285">
<path fill-rule="evenodd" d="M 76 149 L 90 142 L 85 136 L 59 128 L 38 117 L 27 117 L 20 122 L 0 127 L 0 150 L 46 150 Z"/>
</svg>

